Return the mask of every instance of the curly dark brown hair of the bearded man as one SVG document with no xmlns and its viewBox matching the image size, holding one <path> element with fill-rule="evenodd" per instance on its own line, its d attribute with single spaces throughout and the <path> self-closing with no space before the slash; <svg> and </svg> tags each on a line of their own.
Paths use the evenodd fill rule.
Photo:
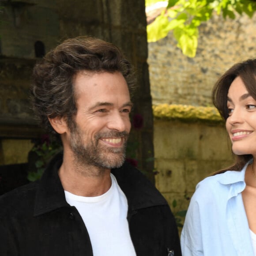
<svg viewBox="0 0 256 256">
<path fill-rule="evenodd" d="M 34 111 L 49 132 L 55 133 L 48 117 L 65 117 L 72 124 L 77 112 L 73 80 L 81 71 L 121 72 L 132 96 L 134 72 L 120 49 L 91 36 L 67 39 L 35 65 L 32 75 Z"/>
</svg>

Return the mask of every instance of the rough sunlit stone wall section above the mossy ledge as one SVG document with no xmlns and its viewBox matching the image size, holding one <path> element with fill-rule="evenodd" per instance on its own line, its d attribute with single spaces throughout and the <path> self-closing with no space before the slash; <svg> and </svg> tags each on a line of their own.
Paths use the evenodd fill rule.
<svg viewBox="0 0 256 256">
<path fill-rule="evenodd" d="M 214 15 L 199 27 L 195 58 L 184 56 L 172 32 L 148 44 L 153 104 L 211 105 L 216 80 L 234 63 L 256 57 L 256 14 L 224 20 Z"/>
</svg>

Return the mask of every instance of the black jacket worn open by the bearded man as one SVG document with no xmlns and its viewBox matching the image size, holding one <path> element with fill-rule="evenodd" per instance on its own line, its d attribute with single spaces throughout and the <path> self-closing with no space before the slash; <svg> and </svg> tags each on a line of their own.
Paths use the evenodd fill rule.
<svg viewBox="0 0 256 256">
<path fill-rule="evenodd" d="M 81 216 L 65 200 L 61 162 L 62 155 L 56 156 L 40 181 L 0 197 L 0 256 L 93 255 Z M 128 163 L 112 173 L 128 200 L 137 256 L 167 256 L 167 248 L 181 256 L 175 219 L 160 192 Z"/>
</svg>

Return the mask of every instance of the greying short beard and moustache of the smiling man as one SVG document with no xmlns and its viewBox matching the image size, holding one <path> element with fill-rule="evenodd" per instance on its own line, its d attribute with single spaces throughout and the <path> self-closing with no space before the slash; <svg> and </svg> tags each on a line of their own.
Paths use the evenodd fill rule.
<svg viewBox="0 0 256 256">
<path fill-rule="evenodd" d="M 100 138 L 121 138 L 125 140 L 122 147 L 108 147 L 99 143 Z M 83 135 L 75 122 L 72 124 L 70 146 L 74 160 L 79 166 L 96 166 L 100 169 L 113 169 L 123 165 L 128 132 L 110 131 L 98 133 L 94 140 L 85 144 Z"/>
</svg>

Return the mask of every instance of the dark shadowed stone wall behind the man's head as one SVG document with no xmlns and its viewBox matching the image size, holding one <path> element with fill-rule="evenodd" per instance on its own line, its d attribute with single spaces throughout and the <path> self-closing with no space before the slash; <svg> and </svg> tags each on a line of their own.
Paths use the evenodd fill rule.
<svg viewBox="0 0 256 256">
<path fill-rule="evenodd" d="M 144 0 L 0 3 L 0 165 L 26 161 L 30 140 L 42 133 L 29 102 L 30 75 L 36 61 L 60 41 L 90 34 L 119 46 L 136 68 L 134 113 L 144 118 L 143 127 L 131 137 L 139 141 L 136 155 L 140 167 L 153 179 L 154 162 L 145 160 L 153 157 L 154 148 Z"/>
</svg>

